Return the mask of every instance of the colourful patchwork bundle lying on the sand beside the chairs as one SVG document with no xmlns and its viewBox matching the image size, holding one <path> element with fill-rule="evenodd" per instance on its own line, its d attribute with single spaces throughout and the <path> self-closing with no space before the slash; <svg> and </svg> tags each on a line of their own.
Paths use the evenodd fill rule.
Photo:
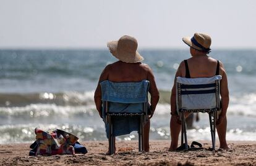
<svg viewBox="0 0 256 166">
<path fill-rule="evenodd" d="M 35 128 L 35 134 L 36 141 L 30 145 L 32 150 L 29 156 L 87 153 L 87 149 L 77 142 L 77 136 L 63 130 L 56 129 L 49 133 Z"/>
</svg>

